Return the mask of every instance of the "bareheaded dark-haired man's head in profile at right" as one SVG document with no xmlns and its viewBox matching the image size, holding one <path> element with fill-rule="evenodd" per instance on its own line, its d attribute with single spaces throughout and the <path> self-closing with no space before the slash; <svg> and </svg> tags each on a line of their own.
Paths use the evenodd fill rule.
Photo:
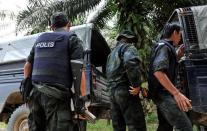
<svg viewBox="0 0 207 131">
<path fill-rule="evenodd" d="M 182 27 L 176 23 L 168 23 L 163 30 L 163 39 L 169 39 L 173 41 L 175 45 L 178 45 L 181 40 Z"/>
</svg>

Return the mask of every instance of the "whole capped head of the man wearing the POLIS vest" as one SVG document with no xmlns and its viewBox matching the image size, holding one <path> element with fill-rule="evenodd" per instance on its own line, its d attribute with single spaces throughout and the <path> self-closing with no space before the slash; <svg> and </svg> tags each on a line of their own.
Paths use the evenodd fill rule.
<svg viewBox="0 0 207 131">
<path fill-rule="evenodd" d="M 65 28 L 66 30 L 70 29 L 70 22 L 68 17 L 63 12 L 56 12 L 50 17 L 51 28 L 52 30 L 56 30 L 58 28 Z"/>
</svg>

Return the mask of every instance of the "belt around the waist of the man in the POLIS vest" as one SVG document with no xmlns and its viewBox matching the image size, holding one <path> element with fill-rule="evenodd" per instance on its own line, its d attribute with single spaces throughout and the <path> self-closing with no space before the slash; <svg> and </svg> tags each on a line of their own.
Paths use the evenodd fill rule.
<svg viewBox="0 0 207 131">
<path fill-rule="evenodd" d="M 73 94 L 69 88 L 67 89 L 61 86 L 41 82 L 33 82 L 32 84 L 39 92 L 63 101 L 69 101 L 73 97 Z"/>
</svg>

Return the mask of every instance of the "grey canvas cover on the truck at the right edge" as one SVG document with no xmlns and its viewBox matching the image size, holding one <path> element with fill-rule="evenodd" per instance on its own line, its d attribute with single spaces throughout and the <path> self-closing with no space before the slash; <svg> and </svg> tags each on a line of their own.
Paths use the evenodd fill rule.
<svg viewBox="0 0 207 131">
<path fill-rule="evenodd" d="M 207 49 L 207 5 L 191 7 L 193 11 L 199 49 Z"/>
</svg>

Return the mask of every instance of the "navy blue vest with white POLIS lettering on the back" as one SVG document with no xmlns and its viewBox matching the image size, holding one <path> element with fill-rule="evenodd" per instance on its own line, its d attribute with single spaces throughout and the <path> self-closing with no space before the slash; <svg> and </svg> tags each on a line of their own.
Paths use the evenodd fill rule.
<svg viewBox="0 0 207 131">
<path fill-rule="evenodd" d="M 71 87 L 69 37 L 72 35 L 70 32 L 52 32 L 38 37 L 34 45 L 32 81 Z"/>
</svg>

